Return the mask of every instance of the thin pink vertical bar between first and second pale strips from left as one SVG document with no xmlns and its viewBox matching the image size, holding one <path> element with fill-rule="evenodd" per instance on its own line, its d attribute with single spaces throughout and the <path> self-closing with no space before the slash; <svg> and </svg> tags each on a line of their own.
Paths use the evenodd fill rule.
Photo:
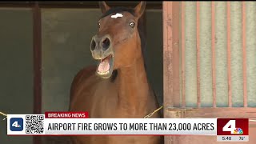
<svg viewBox="0 0 256 144">
<path fill-rule="evenodd" d="M 201 106 L 200 94 L 200 2 L 197 2 L 197 105 Z"/>
</svg>

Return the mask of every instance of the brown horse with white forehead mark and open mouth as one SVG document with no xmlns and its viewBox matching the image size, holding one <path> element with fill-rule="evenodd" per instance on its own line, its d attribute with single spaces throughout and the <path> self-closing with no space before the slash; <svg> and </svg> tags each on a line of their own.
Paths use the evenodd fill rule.
<svg viewBox="0 0 256 144">
<path fill-rule="evenodd" d="M 70 110 L 90 118 L 143 118 L 158 109 L 146 77 L 138 19 L 146 2 L 134 9 L 110 8 L 100 2 L 102 18 L 90 50 L 98 66 L 81 70 L 71 86 Z M 96 70 L 96 74 L 95 74 Z M 160 113 L 151 118 L 160 118 Z M 160 136 L 76 136 L 74 144 L 159 144 Z"/>
</svg>

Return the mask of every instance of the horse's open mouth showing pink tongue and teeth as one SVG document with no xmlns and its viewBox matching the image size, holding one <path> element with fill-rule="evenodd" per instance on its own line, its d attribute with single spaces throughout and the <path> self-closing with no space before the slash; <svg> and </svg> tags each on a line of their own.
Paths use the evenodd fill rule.
<svg viewBox="0 0 256 144">
<path fill-rule="evenodd" d="M 106 58 L 100 59 L 97 66 L 97 74 L 102 78 L 110 78 L 113 72 L 113 60 L 112 54 Z"/>
</svg>

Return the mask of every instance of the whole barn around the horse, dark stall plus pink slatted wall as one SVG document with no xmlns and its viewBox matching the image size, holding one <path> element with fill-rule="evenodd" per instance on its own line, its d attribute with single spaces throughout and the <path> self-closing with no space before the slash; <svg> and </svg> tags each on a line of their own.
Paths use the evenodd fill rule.
<svg viewBox="0 0 256 144">
<path fill-rule="evenodd" d="M 107 3 L 133 7 L 138 2 Z M 148 2 L 144 24 L 147 74 L 159 103 L 164 95 L 170 106 L 165 118 L 255 119 L 256 3 L 166 2 L 163 7 Z M 95 64 L 90 39 L 100 15 L 97 2 L 1 2 L 0 110 L 67 110 L 74 75 Z M 254 135 L 255 124 L 250 126 Z M 37 137 L 7 137 L 5 127 L 0 121 L 1 143 L 39 142 Z M 216 142 L 203 136 L 202 141 L 198 136 L 166 139 Z M 42 142 L 60 141 L 45 137 Z"/>
</svg>

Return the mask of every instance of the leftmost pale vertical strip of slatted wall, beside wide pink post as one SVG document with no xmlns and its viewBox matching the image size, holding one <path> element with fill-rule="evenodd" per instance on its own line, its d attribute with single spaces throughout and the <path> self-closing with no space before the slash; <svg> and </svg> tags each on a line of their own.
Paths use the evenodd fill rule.
<svg viewBox="0 0 256 144">
<path fill-rule="evenodd" d="M 185 94 L 186 107 L 197 106 L 196 2 L 185 3 Z"/>
</svg>

